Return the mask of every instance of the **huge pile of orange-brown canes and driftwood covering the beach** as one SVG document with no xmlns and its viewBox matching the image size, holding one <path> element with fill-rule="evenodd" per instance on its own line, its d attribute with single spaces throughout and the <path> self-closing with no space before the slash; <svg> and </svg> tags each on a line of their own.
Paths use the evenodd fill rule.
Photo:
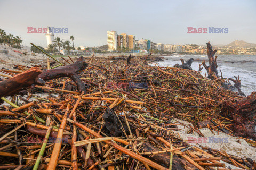
<svg viewBox="0 0 256 170">
<path fill-rule="evenodd" d="M 58 64 L 66 66 L 55 69 L 48 60 L 46 66 L 1 70 L 9 78 L 0 82 L 0 168 L 255 169 L 249 157 L 189 145 L 174 132 L 182 123 L 172 122 L 190 122 L 189 133 L 200 137 L 205 127 L 239 135 L 256 147 L 253 131 L 243 134 L 236 121 L 252 115 L 253 130 L 255 93 L 245 98 L 223 88 L 223 79 L 149 66 L 148 57 L 65 58 Z M 33 81 L 6 89 L 31 72 Z"/>
</svg>

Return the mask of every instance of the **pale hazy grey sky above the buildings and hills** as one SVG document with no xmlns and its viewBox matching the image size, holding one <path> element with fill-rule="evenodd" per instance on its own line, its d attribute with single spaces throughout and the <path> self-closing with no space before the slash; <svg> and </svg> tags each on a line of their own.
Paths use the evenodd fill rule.
<svg viewBox="0 0 256 170">
<path fill-rule="evenodd" d="M 46 47 L 44 33 L 33 28 L 68 28 L 55 37 L 74 46 L 107 44 L 107 31 L 163 44 L 226 45 L 234 40 L 256 43 L 256 1 L 30 1 L 0 0 L 0 28 L 29 43 Z M 193 28 L 228 28 L 228 33 L 187 33 Z"/>
</svg>

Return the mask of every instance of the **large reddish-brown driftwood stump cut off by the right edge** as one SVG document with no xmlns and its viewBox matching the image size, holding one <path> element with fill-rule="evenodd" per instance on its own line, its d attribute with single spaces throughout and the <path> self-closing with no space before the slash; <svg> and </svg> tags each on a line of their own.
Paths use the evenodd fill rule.
<svg viewBox="0 0 256 170">
<path fill-rule="evenodd" d="M 243 99 L 224 101 L 222 115 L 234 121 L 230 128 L 236 135 L 256 140 L 256 92 Z"/>
</svg>

